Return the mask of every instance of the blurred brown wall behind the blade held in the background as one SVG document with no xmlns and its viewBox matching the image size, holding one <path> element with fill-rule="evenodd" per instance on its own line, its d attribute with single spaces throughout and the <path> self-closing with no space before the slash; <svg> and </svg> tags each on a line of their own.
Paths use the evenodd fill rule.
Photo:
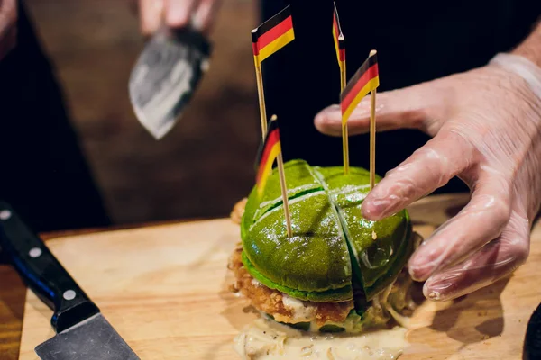
<svg viewBox="0 0 541 360">
<path fill-rule="evenodd" d="M 28 0 L 73 124 L 116 223 L 228 215 L 253 184 L 259 112 L 255 1 L 226 0 L 214 58 L 181 122 L 160 141 L 136 121 L 128 77 L 142 49 L 127 0 Z"/>
</svg>

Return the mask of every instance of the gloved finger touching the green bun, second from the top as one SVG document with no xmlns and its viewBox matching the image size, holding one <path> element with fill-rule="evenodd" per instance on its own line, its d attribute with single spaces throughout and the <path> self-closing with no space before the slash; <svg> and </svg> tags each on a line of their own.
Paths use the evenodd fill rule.
<svg viewBox="0 0 541 360">
<path fill-rule="evenodd" d="M 473 147 L 452 131 L 441 131 L 391 170 L 362 202 L 362 215 L 381 220 L 432 193 L 472 166 Z"/>
</svg>

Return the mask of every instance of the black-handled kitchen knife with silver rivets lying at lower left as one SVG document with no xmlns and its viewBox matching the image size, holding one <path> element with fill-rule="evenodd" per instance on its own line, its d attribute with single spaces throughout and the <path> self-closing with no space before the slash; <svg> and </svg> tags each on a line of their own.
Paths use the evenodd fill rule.
<svg viewBox="0 0 541 360">
<path fill-rule="evenodd" d="M 35 348 L 44 360 L 139 360 L 44 242 L 0 202 L 0 247 L 32 291 L 53 311 L 55 335 Z"/>
</svg>

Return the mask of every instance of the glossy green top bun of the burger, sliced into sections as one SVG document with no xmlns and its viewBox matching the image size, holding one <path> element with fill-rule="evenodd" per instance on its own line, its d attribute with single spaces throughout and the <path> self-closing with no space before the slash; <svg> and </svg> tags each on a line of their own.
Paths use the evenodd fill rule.
<svg viewBox="0 0 541 360">
<path fill-rule="evenodd" d="M 261 284 L 300 300 L 353 299 L 353 283 L 370 301 L 391 284 L 412 250 L 407 211 L 380 221 L 362 218 L 368 171 L 284 164 L 293 237 L 288 238 L 275 170 L 260 199 L 248 197 L 241 224 L 243 264 Z M 380 177 L 376 178 L 379 181 Z M 375 239 L 374 235 L 375 234 Z"/>
</svg>

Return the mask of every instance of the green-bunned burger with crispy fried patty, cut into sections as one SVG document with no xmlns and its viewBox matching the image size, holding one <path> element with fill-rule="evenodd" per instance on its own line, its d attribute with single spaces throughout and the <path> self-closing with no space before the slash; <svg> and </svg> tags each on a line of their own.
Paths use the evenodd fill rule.
<svg viewBox="0 0 541 360">
<path fill-rule="evenodd" d="M 254 187 L 234 211 L 242 241 L 229 260 L 233 291 L 265 318 L 305 331 L 354 333 L 403 323 L 412 309 L 404 267 L 416 242 L 408 211 L 364 219 L 370 174 L 360 167 L 344 175 L 342 166 L 292 160 L 284 170 L 292 237 L 274 171 L 261 197 Z"/>
</svg>

